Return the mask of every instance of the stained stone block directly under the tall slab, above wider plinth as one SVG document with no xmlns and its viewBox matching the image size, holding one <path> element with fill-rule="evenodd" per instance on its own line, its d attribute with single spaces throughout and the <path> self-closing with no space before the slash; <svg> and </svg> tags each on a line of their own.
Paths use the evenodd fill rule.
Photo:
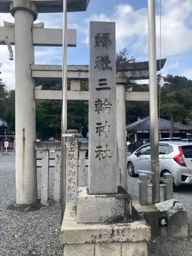
<svg viewBox="0 0 192 256">
<path fill-rule="evenodd" d="M 123 223 L 131 221 L 131 196 L 118 187 L 118 194 L 89 195 L 78 187 L 78 223 Z"/>
</svg>

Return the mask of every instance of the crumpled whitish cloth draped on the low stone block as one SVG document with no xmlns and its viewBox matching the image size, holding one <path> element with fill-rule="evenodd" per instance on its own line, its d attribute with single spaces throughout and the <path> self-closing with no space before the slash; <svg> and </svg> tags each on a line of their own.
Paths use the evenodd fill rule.
<svg viewBox="0 0 192 256">
<path fill-rule="evenodd" d="M 169 199 L 167 201 L 155 204 L 155 208 L 157 208 L 157 210 L 160 212 L 166 211 L 167 218 L 169 219 L 169 217 L 176 214 L 180 209 L 182 209 L 183 206 L 179 202 L 179 200 Z"/>
</svg>

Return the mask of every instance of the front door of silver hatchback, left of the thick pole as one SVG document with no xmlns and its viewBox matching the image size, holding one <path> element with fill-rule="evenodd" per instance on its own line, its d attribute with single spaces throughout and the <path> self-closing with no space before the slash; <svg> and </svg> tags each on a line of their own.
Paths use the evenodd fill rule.
<svg viewBox="0 0 192 256">
<path fill-rule="evenodd" d="M 145 173 L 147 175 L 150 173 L 150 145 L 140 148 L 137 160 L 134 163 L 134 168 L 137 173 Z"/>
</svg>

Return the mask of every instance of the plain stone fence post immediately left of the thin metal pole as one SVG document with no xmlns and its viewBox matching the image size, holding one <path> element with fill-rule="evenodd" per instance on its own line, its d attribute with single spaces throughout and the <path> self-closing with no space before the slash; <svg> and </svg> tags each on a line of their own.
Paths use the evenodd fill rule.
<svg viewBox="0 0 192 256">
<path fill-rule="evenodd" d="M 55 150 L 54 165 L 54 195 L 53 201 L 60 204 L 61 200 L 61 150 Z"/>
</svg>

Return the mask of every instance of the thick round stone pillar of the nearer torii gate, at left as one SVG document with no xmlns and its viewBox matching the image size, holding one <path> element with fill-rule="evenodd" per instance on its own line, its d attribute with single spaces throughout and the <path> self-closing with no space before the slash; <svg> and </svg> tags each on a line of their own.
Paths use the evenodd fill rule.
<svg viewBox="0 0 192 256">
<path fill-rule="evenodd" d="M 34 64 L 31 27 L 34 19 L 37 18 L 37 10 L 29 0 L 14 0 L 11 3 L 11 14 L 15 18 L 16 204 L 30 205 L 37 201 L 37 168 L 34 150 L 35 82 L 30 70 L 30 64 Z"/>
</svg>

